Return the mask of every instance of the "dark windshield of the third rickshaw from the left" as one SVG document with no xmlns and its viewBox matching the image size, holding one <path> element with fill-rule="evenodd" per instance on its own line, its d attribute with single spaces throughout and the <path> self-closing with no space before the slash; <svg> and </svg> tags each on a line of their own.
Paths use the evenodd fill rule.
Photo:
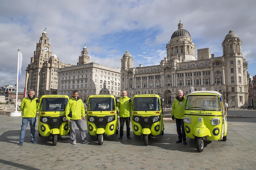
<svg viewBox="0 0 256 170">
<path fill-rule="evenodd" d="M 158 111 L 161 110 L 158 98 L 134 98 L 134 111 Z"/>
</svg>

